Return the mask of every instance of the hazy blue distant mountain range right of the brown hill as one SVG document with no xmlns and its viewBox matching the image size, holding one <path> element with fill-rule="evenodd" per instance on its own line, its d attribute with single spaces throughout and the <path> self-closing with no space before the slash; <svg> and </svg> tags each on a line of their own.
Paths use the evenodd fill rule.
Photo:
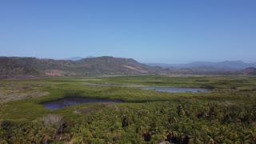
<svg viewBox="0 0 256 144">
<path fill-rule="evenodd" d="M 186 64 L 162 64 L 149 63 L 149 66 L 161 66 L 162 68 L 193 68 L 193 69 L 211 69 L 211 70 L 243 70 L 247 67 L 255 67 L 256 63 L 245 63 L 242 61 L 224 61 L 224 62 L 191 62 Z"/>
</svg>

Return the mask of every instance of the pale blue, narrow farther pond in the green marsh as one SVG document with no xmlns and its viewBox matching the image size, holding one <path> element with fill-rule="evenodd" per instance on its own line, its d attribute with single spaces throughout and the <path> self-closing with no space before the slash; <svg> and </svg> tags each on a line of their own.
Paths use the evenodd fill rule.
<svg viewBox="0 0 256 144">
<path fill-rule="evenodd" d="M 142 90 L 155 90 L 155 91 L 165 91 L 169 93 L 184 93 L 184 92 L 192 92 L 192 93 L 200 93 L 207 92 L 206 89 L 201 88 L 175 88 L 175 87 L 142 87 Z"/>
</svg>

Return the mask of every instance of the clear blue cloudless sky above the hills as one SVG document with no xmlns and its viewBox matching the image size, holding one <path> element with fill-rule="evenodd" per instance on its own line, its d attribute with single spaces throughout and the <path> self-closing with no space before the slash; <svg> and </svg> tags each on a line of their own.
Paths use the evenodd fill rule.
<svg viewBox="0 0 256 144">
<path fill-rule="evenodd" d="M 0 1 L 0 56 L 103 55 L 256 62 L 256 1 Z"/>
</svg>

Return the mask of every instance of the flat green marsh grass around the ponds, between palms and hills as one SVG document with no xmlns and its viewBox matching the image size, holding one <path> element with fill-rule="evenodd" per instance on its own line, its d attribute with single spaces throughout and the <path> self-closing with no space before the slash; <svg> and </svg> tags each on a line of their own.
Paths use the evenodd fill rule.
<svg viewBox="0 0 256 144">
<path fill-rule="evenodd" d="M 86 84 L 85 84 L 86 83 Z M 116 84 L 127 86 L 94 87 L 90 84 Z M 209 93 L 167 93 L 141 90 L 139 86 L 171 86 L 211 88 Z M 198 102 L 255 103 L 256 77 L 167 77 L 167 76 L 126 76 L 109 78 L 45 78 L 38 80 L 10 80 L 0 82 L 0 98 L 6 107 L 4 119 L 26 118 L 33 120 L 45 114 L 69 115 L 82 104 L 63 110 L 46 110 L 41 105 L 65 97 L 106 98 L 124 102 L 182 102 L 194 99 Z M 119 105 L 119 104 L 117 104 Z"/>
</svg>

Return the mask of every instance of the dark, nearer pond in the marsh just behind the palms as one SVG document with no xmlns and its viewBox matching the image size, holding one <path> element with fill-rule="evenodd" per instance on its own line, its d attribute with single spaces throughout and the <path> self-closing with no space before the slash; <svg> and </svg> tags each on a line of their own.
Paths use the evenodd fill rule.
<svg viewBox="0 0 256 144">
<path fill-rule="evenodd" d="M 114 102 L 120 103 L 119 100 L 98 99 L 98 98 L 81 98 L 81 97 L 68 97 L 50 102 L 43 102 L 42 105 L 50 110 L 59 110 L 67 106 L 75 106 L 82 103 L 95 103 L 95 102 Z"/>
</svg>

